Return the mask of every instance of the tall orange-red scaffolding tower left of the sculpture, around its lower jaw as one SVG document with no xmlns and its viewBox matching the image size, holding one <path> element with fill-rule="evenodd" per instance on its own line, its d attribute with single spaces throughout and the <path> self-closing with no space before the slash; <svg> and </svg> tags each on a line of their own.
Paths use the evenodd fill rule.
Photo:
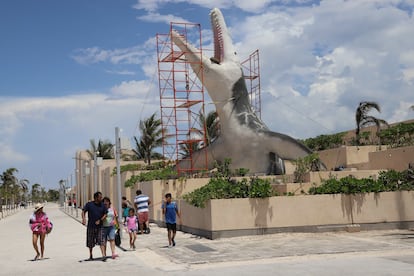
<svg viewBox="0 0 414 276">
<path fill-rule="evenodd" d="M 194 152 L 205 146 L 207 140 L 205 123 L 200 122 L 200 114 L 205 117 L 204 86 L 202 73 L 200 80 L 185 58 L 186 53 L 172 42 L 173 30 L 194 45 L 199 51 L 195 54 L 201 57 L 201 26 L 171 23 L 169 34 L 157 34 L 163 155 L 169 160 L 181 160 L 176 163 L 177 173 L 186 175 L 207 170 L 207 153 L 197 160 L 194 157 Z"/>
</svg>

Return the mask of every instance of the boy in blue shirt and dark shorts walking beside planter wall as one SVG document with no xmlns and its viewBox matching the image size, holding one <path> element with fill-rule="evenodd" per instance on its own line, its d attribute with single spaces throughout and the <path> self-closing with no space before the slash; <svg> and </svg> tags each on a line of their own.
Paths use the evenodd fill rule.
<svg viewBox="0 0 414 276">
<path fill-rule="evenodd" d="M 175 246 L 175 234 L 177 232 L 177 216 L 180 219 L 180 212 L 177 208 L 177 203 L 172 201 L 171 193 L 165 195 L 165 202 L 162 203 L 162 214 L 165 215 L 165 224 L 168 232 L 168 247 Z"/>
</svg>

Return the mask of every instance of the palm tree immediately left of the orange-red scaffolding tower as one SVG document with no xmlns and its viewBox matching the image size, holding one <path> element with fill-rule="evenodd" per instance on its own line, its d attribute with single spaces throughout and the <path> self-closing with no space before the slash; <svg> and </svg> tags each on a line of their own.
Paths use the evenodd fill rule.
<svg viewBox="0 0 414 276">
<path fill-rule="evenodd" d="M 151 158 L 154 155 L 154 149 L 160 147 L 163 142 L 161 119 L 155 118 L 154 113 L 148 119 L 139 122 L 139 129 L 141 139 L 138 140 L 134 136 L 136 144 L 134 152 L 150 165 Z"/>
</svg>

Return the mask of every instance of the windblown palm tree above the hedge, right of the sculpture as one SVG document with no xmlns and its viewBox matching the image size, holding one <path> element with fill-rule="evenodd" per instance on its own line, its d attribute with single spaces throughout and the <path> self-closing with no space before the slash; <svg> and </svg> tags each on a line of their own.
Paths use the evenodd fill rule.
<svg viewBox="0 0 414 276">
<path fill-rule="evenodd" d="M 375 124 L 377 126 L 377 136 L 379 137 L 379 132 L 381 129 L 381 125 L 388 125 L 385 120 L 378 119 L 374 116 L 368 115 L 368 113 L 372 110 L 376 109 L 378 112 L 381 112 L 380 106 L 376 102 L 360 102 L 359 106 L 355 113 L 355 121 L 357 128 L 355 130 L 355 138 L 356 144 L 359 146 L 361 144 L 361 129 L 368 126 Z M 381 141 L 379 141 L 381 144 Z"/>
</svg>

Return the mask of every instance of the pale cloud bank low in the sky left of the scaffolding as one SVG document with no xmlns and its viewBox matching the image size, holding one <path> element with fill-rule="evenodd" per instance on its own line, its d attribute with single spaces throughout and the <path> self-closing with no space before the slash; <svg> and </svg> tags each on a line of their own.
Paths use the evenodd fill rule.
<svg viewBox="0 0 414 276">
<path fill-rule="evenodd" d="M 72 157 L 89 148 L 90 139 L 114 141 L 115 127 L 124 129 L 126 137 L 137 136 L 139 120 L 158 110 L 159 102 L 126 97 L 128 86 L 135 87 L 132 82 L 115 86 L 109 94 L 1 98 L 0 168 L 16 167 L 19 178 L 53 188 L 73 174 L 68 169 L 73 168 Z M 115 95 L 117 100 L 109 100 Z"/>
</svg>

